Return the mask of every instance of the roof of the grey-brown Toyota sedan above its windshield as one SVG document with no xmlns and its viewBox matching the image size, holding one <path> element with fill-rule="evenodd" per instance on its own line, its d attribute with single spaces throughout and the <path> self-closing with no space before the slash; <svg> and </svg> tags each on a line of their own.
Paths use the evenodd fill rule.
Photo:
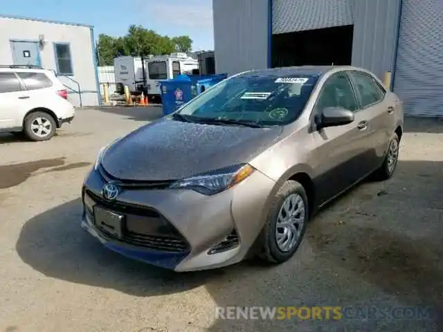
<svg viewBox="0 0 443 332">
<path fill-rule="evenodd" d="M 257 69 L 253 71 L 246 71 L 239 74 L 240 77 L 285 77 L 285 76 L 296 76 L 296 75 L 306 75 L 306 76 L 322 76 L 325 73 L 333 70 L 340 69 L 354 69 L 359 70 L 353 66 L 293 66 L 293 67 L 282 67 L 282 68 L 267 68 L 267 69 Z"/>
</svg>

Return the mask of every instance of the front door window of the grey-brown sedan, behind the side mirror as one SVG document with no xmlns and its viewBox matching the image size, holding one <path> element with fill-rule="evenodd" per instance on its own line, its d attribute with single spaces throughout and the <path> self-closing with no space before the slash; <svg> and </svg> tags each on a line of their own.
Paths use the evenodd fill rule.
<svg viewBox="0 0 443 332">
<path fill-rule="evenodd" d="M 316 109 L 320 113 L 326 107 L 343 107 L 349 111 L 359 109 L 351 82 L 345 73 L 336 73 L 325 82 Z"/>
</svg>

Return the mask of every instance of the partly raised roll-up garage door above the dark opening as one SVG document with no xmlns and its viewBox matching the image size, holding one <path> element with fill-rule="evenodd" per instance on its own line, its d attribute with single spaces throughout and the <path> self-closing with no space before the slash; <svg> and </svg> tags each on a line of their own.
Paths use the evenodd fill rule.
<svg viewBox="0 0 443 332">
<path fill-rule="evenodd" d="M 273 34 L 351 25 L 354 1 L 273 0 Z"/>
</svg>

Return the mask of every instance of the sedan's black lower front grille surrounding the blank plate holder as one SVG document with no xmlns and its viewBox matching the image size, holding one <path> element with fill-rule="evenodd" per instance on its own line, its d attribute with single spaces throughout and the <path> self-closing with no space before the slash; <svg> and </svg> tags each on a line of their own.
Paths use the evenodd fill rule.
<svg viewBox="0 0 443 332">
<path fill-rule="evenodd" d="M 89 191 L 86 194 L 96 205 L 125 216 L 123 234 L 121 238 L 118 238 L 115 234 L 96 225 L 93 213 L 87 209 L 94 227 L 105 237 L 133 246 L 163 252 L 189 251 L 189 245 L 183 236 L 159 212 L 121 202 L 107 202 Z"/>
</svg>

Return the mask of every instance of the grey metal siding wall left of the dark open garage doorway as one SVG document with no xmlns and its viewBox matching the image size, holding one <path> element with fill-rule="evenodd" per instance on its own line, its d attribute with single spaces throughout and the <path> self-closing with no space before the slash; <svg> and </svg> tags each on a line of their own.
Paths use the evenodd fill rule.
<svg viewBox="0 0 443 332">
<path fill-rule="evenodd" d="M 268 7 L 268 0 L 213 0 L 217 73 L 267 67 Z"/>
</svg>

